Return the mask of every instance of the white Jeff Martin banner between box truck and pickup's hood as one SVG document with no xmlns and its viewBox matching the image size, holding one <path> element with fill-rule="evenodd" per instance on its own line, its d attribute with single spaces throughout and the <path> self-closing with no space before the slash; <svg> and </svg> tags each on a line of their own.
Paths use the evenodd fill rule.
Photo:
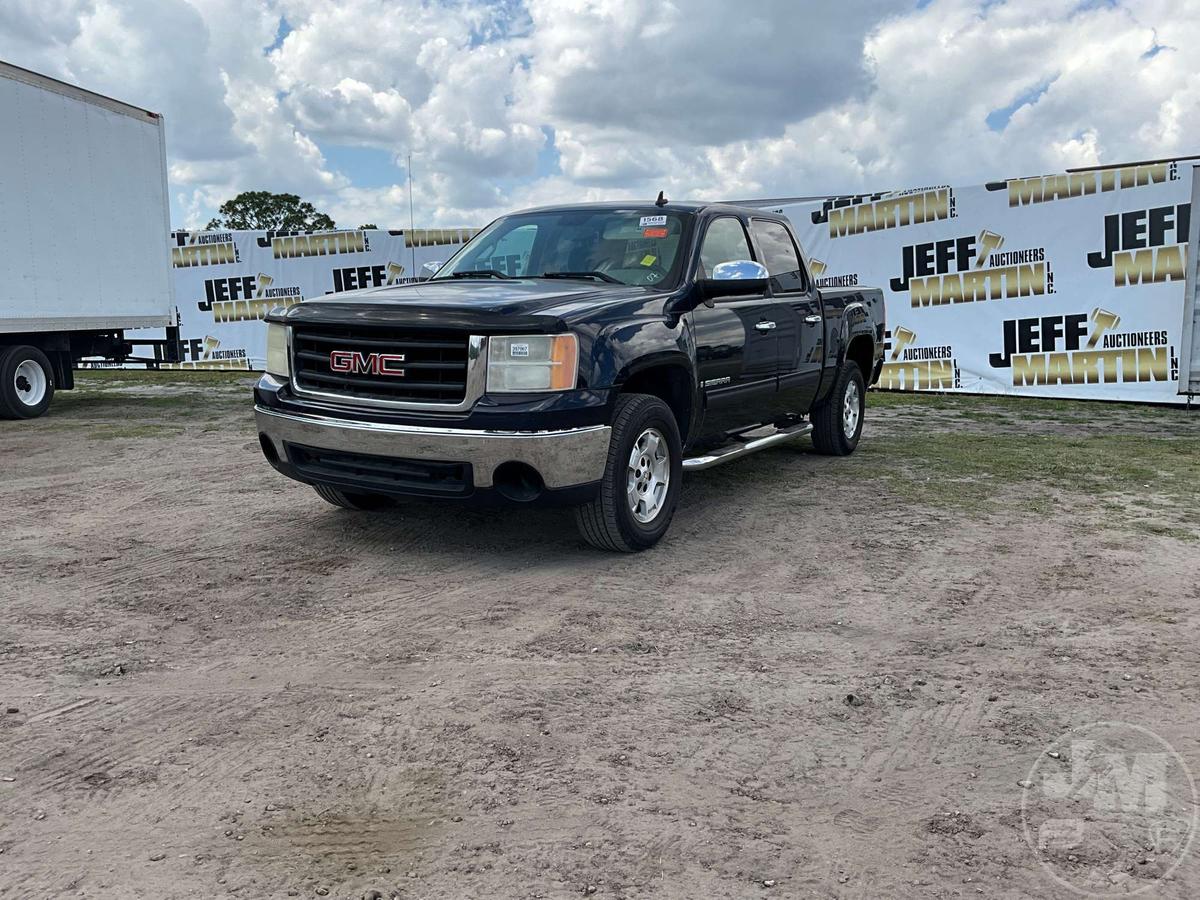
<svg viewBox="0 0 1200 900">
<path fill-rule="evenodd" d="M 182 361 L 166 367 L 262 370 L 263 317 L 276 306 L 414 281 L 425 263 L 445 262 L 474 234 L 473 228 L 174 232 Z"/>
</svg>

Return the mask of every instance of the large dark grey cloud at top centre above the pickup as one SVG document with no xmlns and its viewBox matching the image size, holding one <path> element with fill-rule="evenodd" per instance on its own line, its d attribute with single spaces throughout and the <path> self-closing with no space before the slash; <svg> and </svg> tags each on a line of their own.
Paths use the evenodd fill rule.
<svg viewBox="0 0 1200 900">
<path fill-rule="evenodd" d="M 533 98 L 556 122 L 644 140 L 779 134 L 865 84 L 864 32 L 892 0 L 529 0 Z M 814 36 L 820 36 L 814 40 Z"/>
</svg>

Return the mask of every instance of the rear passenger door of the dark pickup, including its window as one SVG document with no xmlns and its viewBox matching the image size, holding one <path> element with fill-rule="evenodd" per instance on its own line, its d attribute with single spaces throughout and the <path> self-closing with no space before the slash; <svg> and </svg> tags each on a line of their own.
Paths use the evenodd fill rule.
<svg viewBox="0 0 1200 900">
<path fill-rule="evenodd" d="M 770 274 L 779 340 L 779 408 L 805 414 L 821 384 L 826 352 L 821 292 L 809 278 L 796 239 L 782 222 L 751 218 L 750 234 Z"/>
</svg>

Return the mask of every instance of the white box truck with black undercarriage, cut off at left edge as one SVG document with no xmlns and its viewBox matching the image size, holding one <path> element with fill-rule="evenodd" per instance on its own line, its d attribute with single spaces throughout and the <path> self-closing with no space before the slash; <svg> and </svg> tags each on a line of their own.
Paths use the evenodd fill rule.
<svg viewBox="0 0 1200 900">
<path fill-rule="evenodd" d="M 164 126 L 6 62 L 0 122 L 0 416 L 30 419 L 80 359 L 175 358 Z M 168 340 L 125 337 L 151 326 Z"/>
</svg>

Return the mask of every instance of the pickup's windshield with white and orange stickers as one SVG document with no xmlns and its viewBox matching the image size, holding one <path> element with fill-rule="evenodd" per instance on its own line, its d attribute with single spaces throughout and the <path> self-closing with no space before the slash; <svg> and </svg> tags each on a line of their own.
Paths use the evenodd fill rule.
<svg viewBox="0 0 1200 900">
<path fill-rule="evenodd" d="M 674 281 L 689 215 L 656 206 L 526 212 L 492 222 L 442 268 L 446 278 Z"/>
</svg>

